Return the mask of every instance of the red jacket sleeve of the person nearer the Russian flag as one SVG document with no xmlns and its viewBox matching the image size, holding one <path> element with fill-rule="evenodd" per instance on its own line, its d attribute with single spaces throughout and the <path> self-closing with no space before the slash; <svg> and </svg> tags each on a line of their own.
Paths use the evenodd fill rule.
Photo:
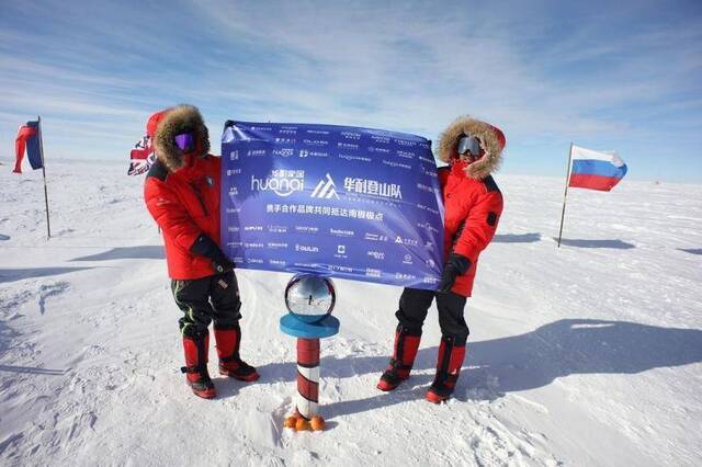
<svg viewBox="0 0 702 467">
<path fill-rule="evenodd" d="M 482 195 L 471 208 L 453 252 L 464 255 L 475 264 L 480 251 L 492 240 L 501 214 L 502 194 L 499 191 Z"/>
</svg>

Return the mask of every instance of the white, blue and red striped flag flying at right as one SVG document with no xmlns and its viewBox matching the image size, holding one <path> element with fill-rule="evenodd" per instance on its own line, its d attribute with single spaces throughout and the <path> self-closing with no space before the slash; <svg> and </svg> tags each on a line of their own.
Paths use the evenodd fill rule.
<svg viewBox="0 0 702 467">
<path fill-rule="evenodd" d="M 626 164 L 615 153 L 597 152 L 573 145 L 568 186 L 609 192 L 626 174 Z"/>
</svg>

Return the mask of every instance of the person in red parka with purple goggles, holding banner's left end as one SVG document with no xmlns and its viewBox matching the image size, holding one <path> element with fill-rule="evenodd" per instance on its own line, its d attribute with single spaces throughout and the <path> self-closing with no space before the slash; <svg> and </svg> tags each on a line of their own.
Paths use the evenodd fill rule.
<svg viewBox="0 0 702 467">
<path fill-rule="evenodd" d="M 163 232 L 168 274 L 185 352 L 185 379 L 192 391 L 216 396 L 207 372 L 210 332 L 219 357 L 219 373 L 252 381 L 256 368 L 239 356 L 241 300 L 234 263 L 219 248 L 219 164 L 208 153 L 210 137 L 200 111 L 178 105 L 157 112 L 147 135 L 157 161 L 149 170 L 144 198 Z"/>
</svg>

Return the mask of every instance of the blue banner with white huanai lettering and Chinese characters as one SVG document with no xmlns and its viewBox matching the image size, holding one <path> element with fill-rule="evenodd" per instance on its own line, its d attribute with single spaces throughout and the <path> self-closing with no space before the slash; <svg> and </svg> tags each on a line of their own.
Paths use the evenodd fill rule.
<svg viewBox="0 0 702 467">
<path fill-rule="evenodd" d="M 222 159 L 222 246 L 238 267 L 437 287 L 443 207 L 431 141 L 227 122 Z"/>
</svg>

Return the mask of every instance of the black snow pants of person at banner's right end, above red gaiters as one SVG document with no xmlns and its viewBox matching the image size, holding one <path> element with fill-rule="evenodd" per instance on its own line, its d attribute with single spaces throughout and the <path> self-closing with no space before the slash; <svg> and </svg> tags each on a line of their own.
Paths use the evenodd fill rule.
<svg viewBox="0 0 702 467">
<path fill-rule="evenodd" d="M 395 314 L 399 324 L 409 334 L 420 335 L 421 327 L 434 297 L 437 297 L 437 308 L 439 309 L 441 334 L 444 338 L 453 338 L 455 345 L 465 345 L 471 332 L 465 319 L 463 319 L 466 298 L 453 292 L 437 294 L 433 291 L 405 288 L 399 297 L 399 309 Z"/>
</svg>

